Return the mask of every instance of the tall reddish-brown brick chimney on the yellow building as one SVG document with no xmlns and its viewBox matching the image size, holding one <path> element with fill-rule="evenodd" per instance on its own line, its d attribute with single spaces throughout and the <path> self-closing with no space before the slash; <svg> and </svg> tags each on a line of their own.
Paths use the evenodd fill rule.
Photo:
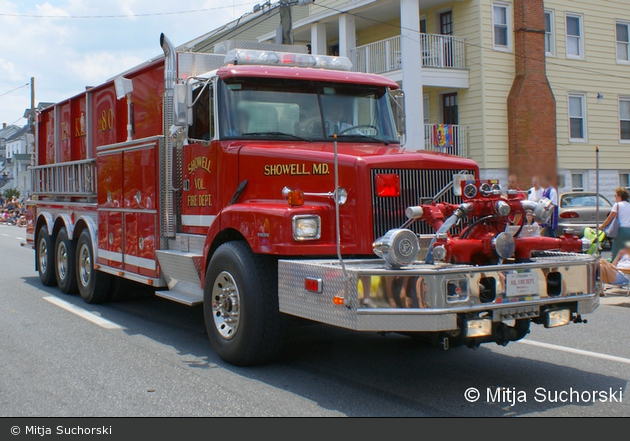
<svg viewBox="0 0 630 441">
<path fill-rule="evenodd" d="M 545 72 L 543 0 L 514 0 L 516 76 L 508 96 L 509 171 L 521 189 L 555 177 L 556 100 Z"/>
</svg>

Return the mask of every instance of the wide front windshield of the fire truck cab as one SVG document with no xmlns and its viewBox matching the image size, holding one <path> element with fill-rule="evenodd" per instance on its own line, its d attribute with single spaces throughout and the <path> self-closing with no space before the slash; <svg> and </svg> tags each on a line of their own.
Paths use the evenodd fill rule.
<svg viewBox="0 0 630 441">
<path fill-rule="evenodd" d="M 219 105 L 222 139 L 398 142 L 385 87 L 230 78 Z"/>
</svg>

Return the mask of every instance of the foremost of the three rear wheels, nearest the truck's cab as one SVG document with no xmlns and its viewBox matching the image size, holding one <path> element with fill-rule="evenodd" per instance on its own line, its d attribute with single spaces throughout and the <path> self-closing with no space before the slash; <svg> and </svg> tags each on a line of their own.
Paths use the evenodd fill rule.
<svg viewBox="0 0 630 441">
<path fill-rule="evenodd" d="M 108 300 L 112 278 L 94 268 L 92 238 L 86 229 L 81 232 L 76 251 L 76 280 L 81 298 L 87 303 L 103 303 Z"/>
</svg>

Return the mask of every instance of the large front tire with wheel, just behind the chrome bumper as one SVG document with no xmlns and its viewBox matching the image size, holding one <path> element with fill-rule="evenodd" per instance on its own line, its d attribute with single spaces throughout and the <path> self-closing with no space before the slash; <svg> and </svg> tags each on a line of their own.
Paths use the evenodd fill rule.
<svg viewBox="0 0 630 441">
<path fill-rule="evenodd" d="M 278 308 L 277 268 L 246 242 L 225 243 L 212 256 L 203 310 L 210 343 L 226 362 L 251 366 L 279 354 L 286 319 Z"/>
</svg>

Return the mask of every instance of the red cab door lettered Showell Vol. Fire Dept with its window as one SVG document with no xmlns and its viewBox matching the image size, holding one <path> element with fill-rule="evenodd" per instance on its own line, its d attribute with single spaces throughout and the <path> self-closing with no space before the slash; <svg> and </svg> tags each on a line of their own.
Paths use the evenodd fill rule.
<svg viewBox="0 0 630 441">
<path fill-rule="evenodd" d="M 183 151 L 182 231 L 206 234 L 216 219 L 217 149 L 213 82 L 192 90 L 192 125 Z"/>
</svg>

